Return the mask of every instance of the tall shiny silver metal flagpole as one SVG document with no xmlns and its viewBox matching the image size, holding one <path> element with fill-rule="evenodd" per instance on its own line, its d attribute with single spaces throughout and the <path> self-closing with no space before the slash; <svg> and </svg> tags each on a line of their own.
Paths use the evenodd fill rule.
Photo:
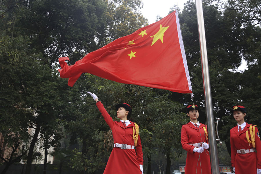
<svg viewBox="0 0 261 174">
<path fill-rule="evenodd" d="M 207 57 L 207 50 L 206 50 L 206 38 L 205 38 L 202 0 L 195 0 L 195 1 L 196 1 L 196 11 L 197 11 L 198 33 L 199 33 L 199 40 L 200 40 L 202 77 L 203 77 L 204 96 L 205 96 L 205 105 L 206 105 L 206 120 L 207 120 L 208 135 L 209 135 L 208 137 L 209 137 L 211 172 L 212 174 L 219 174 L 218 151 L 217 151 L 216 136 L 215 136 L 213 109 L 212 109 L 213 106 L 212 106 L 210 78 L 209 78 L 209 65 L 208 65 L 208 57 Z"/>
</svg>

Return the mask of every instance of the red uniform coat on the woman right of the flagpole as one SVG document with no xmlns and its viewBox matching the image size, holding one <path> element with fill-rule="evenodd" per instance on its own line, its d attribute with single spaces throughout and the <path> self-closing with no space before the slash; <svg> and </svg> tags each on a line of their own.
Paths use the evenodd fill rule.
<svg viewBox="0 0 261 174">
<path fill-rule="evenodd" d="M 251 140 L 249 127 L 250 124 L 247 123 L 240 135 L 238 133 L 238 126 L 230 129 L 231 164 L 232 167 L 235 167 L 236 174 L 256 174 L 256 169 L 261 168 L 261 142 L 257 127 L 255 127 L 254 135 L 256 152 L 239 154 L 236 151 L 236 149 L 253 148 L 252 144 L 249 144 L 247 141 L 247 131 Z"/>
</svg>

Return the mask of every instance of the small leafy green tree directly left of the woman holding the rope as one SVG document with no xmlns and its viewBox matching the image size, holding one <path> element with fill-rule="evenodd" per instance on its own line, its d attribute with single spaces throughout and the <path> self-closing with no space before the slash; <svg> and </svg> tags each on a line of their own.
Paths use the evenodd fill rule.
<svg viewBox="0 0 261 174">
<path fill-rule="evenodd" d="M 152 129 L 155 135 L 155 148 L 166 156 L 166 173 L 170 174 L 171 159 L 176 159 L 182 154 L 180 127 L 186 123 L 186 115 L 180 112 L 182 106 L 179 103 L 164 101 L 166 98 L 164 95 L 159 98 L 162 101 L 156 104 L 157 110 L 154 110 L 154 113 L 157 113 L 155 116 L 159 119 Z"/>
</svg>

